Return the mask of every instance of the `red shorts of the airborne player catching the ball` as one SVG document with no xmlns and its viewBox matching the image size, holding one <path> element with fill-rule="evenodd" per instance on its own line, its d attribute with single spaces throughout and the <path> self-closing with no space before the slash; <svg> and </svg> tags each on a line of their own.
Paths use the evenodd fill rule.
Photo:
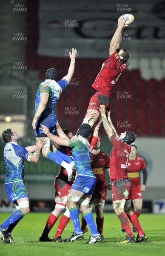
<svg viewBox="0 0 165 256">
<path fill-rule="evenodd" d="M 95 93 L 94 96 L 91 97 L 91 100 L 88 105 L 88 109 L 97 109 L 100 105 L 104 105 L 107 110 L 111 109 L 111 99 L 107 96 L 104 96 L 100 93 Z M 98 110 L 100 113 L 100 110 Z"/>
</svg>

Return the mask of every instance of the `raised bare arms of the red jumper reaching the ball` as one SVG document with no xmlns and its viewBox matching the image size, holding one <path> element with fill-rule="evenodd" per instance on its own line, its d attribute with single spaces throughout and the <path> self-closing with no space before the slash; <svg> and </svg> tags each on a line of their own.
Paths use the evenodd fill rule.
<svg viewBox="0 0 165 256">
<path fill-rule="evenodd" d="M 119 48 L 119 45 L 122 39 L 122 31 L 126 26 L 129 26 L 129 25 L 125 25 L 126 20 L 123 20 L 123 17 L 121 17 L 121 19 L 118 20 L 117 30 L 115 31 L 114 36 L 111 39 L 111 43 L 109 46 L 109 55 L 116 52 L 116 49 Z"/>
</svg>

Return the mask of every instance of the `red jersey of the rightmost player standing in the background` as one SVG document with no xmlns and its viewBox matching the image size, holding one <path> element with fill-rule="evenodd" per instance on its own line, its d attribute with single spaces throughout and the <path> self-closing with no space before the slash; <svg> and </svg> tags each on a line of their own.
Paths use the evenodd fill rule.
<svg viewBox="0 0 165 256">
<path fill-rule="evenodd" d="M 142 157 L 136 156 L 134 160 L 128 160 L 127 175 L 133 185 L 140 183 L 140 171 L 145 168 L 145 160 Z"/>
</svg>

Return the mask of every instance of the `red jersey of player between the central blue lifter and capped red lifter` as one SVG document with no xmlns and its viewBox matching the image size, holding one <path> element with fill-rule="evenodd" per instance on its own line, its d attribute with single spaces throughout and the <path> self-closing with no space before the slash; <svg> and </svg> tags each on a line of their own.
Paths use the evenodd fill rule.
<svg viewBox="0 0 165 256">
<path fill-rule="evenodd" d="M 106 184 L 105 169 L 109 168 L 110 157 L 103 151 L 99 154 L 91 153 L 91 168 L 96 175 L 97 183 Z"/>
</svg>

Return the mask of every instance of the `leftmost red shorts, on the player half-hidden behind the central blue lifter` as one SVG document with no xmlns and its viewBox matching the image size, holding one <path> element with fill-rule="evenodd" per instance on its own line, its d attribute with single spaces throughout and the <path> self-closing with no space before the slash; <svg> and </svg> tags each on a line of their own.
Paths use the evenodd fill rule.
<svg viewBox="0 0 165 256">
<path fill-rule="evenodd" d="M 54 182 L 54 187 L 56 189 L 55 196 L 60 196 L 61 198 L 69 194 L 71 184 L 64 182 L 64 180 L 56 178 L 56 181 Z"/>
</svg>

